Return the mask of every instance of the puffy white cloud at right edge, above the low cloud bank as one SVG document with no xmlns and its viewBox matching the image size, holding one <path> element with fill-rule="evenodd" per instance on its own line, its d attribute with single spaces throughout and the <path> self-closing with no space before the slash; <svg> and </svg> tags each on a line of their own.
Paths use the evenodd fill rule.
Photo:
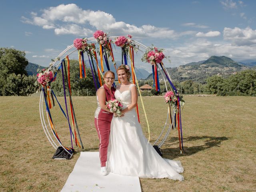
<svg viewBox="0 0 256 192">
<path fill-rule="evenodd" d="M 245 29 L 225 27 L 223 37 L 224 40 L 230 40 L 239 46 L 256 44 L 256 30 L 252 30 L 250 27 L 246 27 Z"/>
</svg>

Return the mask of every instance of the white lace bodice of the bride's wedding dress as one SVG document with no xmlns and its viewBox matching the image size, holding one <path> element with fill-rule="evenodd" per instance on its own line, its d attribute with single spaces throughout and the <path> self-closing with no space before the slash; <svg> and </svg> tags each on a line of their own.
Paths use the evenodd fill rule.
<svg viewBox="0 0 256 192">
<path fill-rule="evenodd" d="M 130 85 L 121 85 L 116 86 L 115 98 L 121 100 L 123 109 L 129 106 L 132 103 L 131 88 L 136 86 L 134 84 Z"/>
</svg>

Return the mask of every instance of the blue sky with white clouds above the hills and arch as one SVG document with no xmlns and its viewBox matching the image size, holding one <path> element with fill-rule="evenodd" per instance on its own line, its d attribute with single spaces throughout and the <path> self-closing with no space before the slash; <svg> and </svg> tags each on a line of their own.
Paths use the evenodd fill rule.
<svg viewBox="0 0 256 192">
<path fill-rule="evenodd" d="M 167 67 L 212 55 L 256 61 L 255 9 L 254 0 L 2 0 L 0 47 L 26 51 L 29 62 L 48 66 L 75 38 L 100 29 L 164 48 L 172 61 Z M 150 70 L 140 58 L 137 67 Z"/>
</svg>

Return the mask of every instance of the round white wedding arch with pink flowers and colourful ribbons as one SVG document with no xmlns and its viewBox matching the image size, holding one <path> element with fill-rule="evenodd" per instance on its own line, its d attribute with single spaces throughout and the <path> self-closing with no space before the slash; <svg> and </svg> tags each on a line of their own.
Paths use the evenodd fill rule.
<svg viewBox="0 0 256 192">
<path fill-rule="evenodd" d="M 162 128 L 161 133 L 159 134 L 157 140 L 154 142 L 153 146 L 155 148 L 160 148 L 162 144 L 164 144 L 166 138 L 170 134 L 170 131 L 173 129 L 178 130 L 179 140 L 180 140 L 180 153 L 184 151 L 183 149 L 183 141 L 182 141 L 182 124 L 181 124 L 181 106 L 184 105 L 184 101 L 182 100 L 182 96 L 179 95 L 178 90 L 172 84 L 170 74 L 166 67 L 164 66 L 162 60 L 165 57 L 162 53 L 161 49 L 156 47 L 147 47 L 140 42 L 131 39 L 132 36 L 108 36 L 108 34 L 98 30 L 94 33 L 94 37 L 83 38 L 83 39 L 75 39 L 74 44 L 68 46 L 65 50 L 63 50 L 55 60 L 52 60 L 48 70 L 42 71 L 38 74 L 38 83 L 41 88 L 40 94 L 40 102 L 39 102 L 39 110 L 40 110 L 40 120 L 42 123 L 42 127 L 46 137 L 48 138 L 50 144 L 55 148 L 62 148 L 69 154 L 69 158 L 71 158 L 74 150 L 73 150 L 73 142 L 76 146 L 84 148 L 82 144 L 82 139 L 79 133 L 78 125 L 76 122 L 75 110 L 72 103 L 72 93 L 70 90 L 69 82 L 69 58 L 68 56 L 74 52 L 78 52 L 79 65 L 80 65 L 80 78 L 86 78 L 85 74 L 85 65 L 84 65 L 84 56 L 87 54 L 90 68 L 94 80 L 95 88 L 99 88 L 102 85 L 100 76 L 104 74 L 104 66 L 109 70 L 109 59 L 111 59 L 112 63 L 115 66 L 114 54 L 112 45 L 115 44 L 122 49 L 122 64 L 128 65 L 130 62 L 130 68 L 132 69 L 132 81 L 136 84 L 140 96 L 140 100 L 142 102 L 142 108 L 144 111 L 144 115 L 146 117 L 146 123 L 148 126 L 148 134 L 150 141 L 150 128 L 148 119 L 146 116 L 146 110 L 144 108 L 142 96 L 140 93 L 140 89 L 138 86 L 138 80 L 136 78 L 135 70 L 134 70 L 134 50 L 141 51 L 144 53 L 142 61 L 148 62 L 152 65 L 152 73 L 154 80 L 154 87 L 156 91 L 159 91 L 159 79 L 158 74 L 162 75 L 164 79 L 164 84 L 166 90 L 168 90 L 167 84 L 170 85 L 170 91 L 165 94 L 166 103 L 168 103 L 168 112 L 166 117 L 166 122 Z M 95 43 L 88 43 L 89 41 L 96 41 L 99 44 L 99 48 L 96 48 Z M 96 54 L 98 52 L 98 56 Z M 98 58 L 100 62 L 98 62 Z M 67 69 L 66 69 L 67 67 Z M 98 73 L 96 72 L 96 69 Z M 69 102 L 66 98 L 65 93 L 65 80 L 64 71 L 67 70 L 67 79 L 68 79 L 68 98 Z M 63 109 L 60 103 L 57 100 L 53 90 L 50 88 L 50 83 L 53 82 L 56 78 L 57 71 L 62 72 L 63 79 L 63 88 L 64 88 L 64 100 L 65 100 L 65 108 Z M 70 129 L 70 138 L 71 138 L 71 147 L 66 147 L 60 141 L 58 137 L 56 128 L 54 127 L 54 123 L 52 121 L 51 116 L 51 108 L 54 100 L 58 103 L 62 113 L 64 114 L 66 120 L 68 121 L 69 129 Z M 43 106 L 45 104 L 45 107 Z M 68 104 L 70 107 L 68 107 Z M 69 108 L 69 109 L 68 109 Z M 138 106 L 137 106 L 138 112 Z M 70 116 L 71 114 L 71 116 Z M 139 114 L 138 114 L 139 118 Z M 160 140 L 160 138 L 162 138 Z M 158 145 L 156 145 L 158 143 Z"/>
</svg>

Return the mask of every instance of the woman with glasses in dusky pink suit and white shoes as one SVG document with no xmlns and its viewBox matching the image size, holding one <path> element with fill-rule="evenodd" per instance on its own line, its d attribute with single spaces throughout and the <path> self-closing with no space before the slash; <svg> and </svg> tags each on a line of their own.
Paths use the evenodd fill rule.
<svg viewBox="0 0 256 192">
<path fill-rule="evenodd" d="M 96 92 L 98 107 L 94 114 L 94 124 L 100 140 L 100 165 L 103 175 L 107 174 L 106 161 L 108 152 L 108 140 L 110 134 L 110 124 L 113 117 L 113 113 L 110 112 L 110 110 L 106 106 L 106 101 L 115 98 L 115 88 L 112 87 L 114 80 L 114 72 L 106 71 L 104 74 L 105 84 L 101 86 Z"/>
</svg>

